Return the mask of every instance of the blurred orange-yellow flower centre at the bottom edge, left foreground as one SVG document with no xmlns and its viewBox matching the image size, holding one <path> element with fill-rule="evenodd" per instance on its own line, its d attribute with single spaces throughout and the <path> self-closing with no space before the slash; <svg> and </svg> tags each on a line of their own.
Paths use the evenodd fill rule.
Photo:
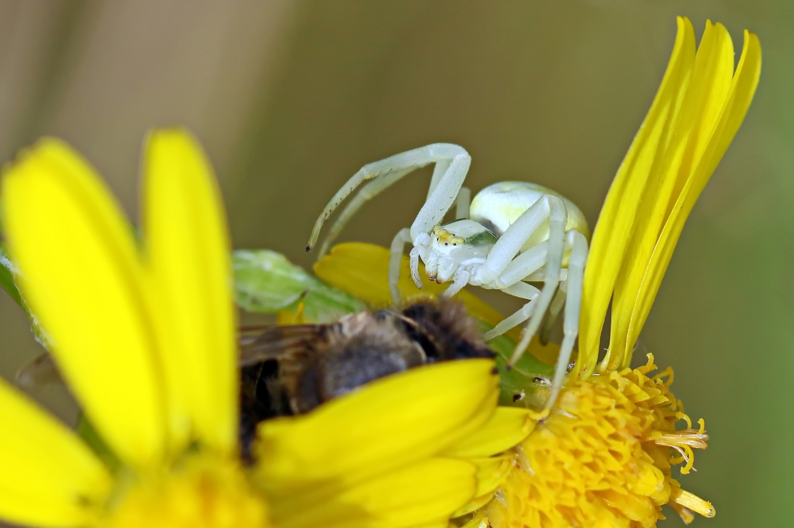
<svg viewBox="0 0 794 528">
<path fill-rule="evenodd" d="M 267 528 L 268 508 L 233 461 L 198 455 L 168 475 L 134 480 L 101 528 Z"/>
</svg>

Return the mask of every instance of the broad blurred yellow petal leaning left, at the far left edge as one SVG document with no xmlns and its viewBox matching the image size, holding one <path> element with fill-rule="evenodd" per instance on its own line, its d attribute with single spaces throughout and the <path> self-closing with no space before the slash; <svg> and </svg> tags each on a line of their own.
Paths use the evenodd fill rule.
<svg viewBox="0 0 794 528">
<path fill-rule="evenodd" d="M 91 422 L 125 461 L 164 445 L 150 299 L 133 233 L 94 170 L 44 139 L 3 178 L 2 213 L 21 290 Z"/>
</svg>

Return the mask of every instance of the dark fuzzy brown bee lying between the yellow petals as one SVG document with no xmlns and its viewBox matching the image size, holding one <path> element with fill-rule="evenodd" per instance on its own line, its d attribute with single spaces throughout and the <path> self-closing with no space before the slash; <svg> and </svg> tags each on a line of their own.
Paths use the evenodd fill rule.
<svg viewBox="0 0 794 528">
<path fill-rule="evenodd" d="M 493 357 L 464 306 L 424 300 L 332 324 L 241 331 L 241 442 L 256 424 L 306 413 L 364 383 L 437 361 Z"/>
</svg>

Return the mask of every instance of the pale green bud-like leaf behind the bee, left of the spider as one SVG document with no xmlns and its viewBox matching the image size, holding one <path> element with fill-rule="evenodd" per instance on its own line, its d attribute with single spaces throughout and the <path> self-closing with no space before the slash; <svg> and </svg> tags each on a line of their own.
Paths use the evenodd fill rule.
<svg viewBox="0 0 794 528">
<path fill-rule="evenodd" d="M 303 303 L 307 322 L 331 322 L 366 310 L 366 305 L 268 249 L 240 249 L 233 254 L 237 304 L 245 310 L 274 314 Z"/>
</svg>

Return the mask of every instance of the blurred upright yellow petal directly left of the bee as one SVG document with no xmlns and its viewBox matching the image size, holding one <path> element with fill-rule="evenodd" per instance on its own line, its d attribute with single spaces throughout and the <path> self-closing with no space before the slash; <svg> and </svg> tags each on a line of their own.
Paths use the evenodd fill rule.
<svg viewBox="0 0 794 528">
<path fill-rule="evenodd" d="M 193 435 L 228 452 L 237 442 L 228 229 L 210 163 L 185 130 L 148 138 L 143 211 L 175 447 Z"/>
</svg>

